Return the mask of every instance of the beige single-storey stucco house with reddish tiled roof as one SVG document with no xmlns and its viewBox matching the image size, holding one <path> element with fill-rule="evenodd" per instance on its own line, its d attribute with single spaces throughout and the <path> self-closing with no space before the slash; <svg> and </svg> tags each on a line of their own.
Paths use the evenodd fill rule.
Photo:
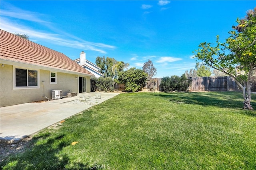
<svg viewBox="0 0 256 170">
<path fill-rule="evenodd" d="M 0 107 L 88 93 L 90 77 L 63 53 L 0 29 Z"/>
</svg>

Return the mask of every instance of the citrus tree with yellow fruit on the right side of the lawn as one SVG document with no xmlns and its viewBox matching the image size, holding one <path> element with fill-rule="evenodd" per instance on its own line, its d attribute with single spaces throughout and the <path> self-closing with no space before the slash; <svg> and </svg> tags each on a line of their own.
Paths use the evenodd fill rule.
<svg viewBox="0 0 256 170">
<path fill-rule="evenodd" d="M 234 78 L 242 89 L 244 108 L 253 109 L 251 101 L 251 76 L 256 68 L 256 7 L 249 10 L 244 19 L 237 18 L 238 25 L 232 26 L 230 37 L 225 43 L 200 43 L 193 51 L 195 57 L 206 65 Z"/>
</svg>

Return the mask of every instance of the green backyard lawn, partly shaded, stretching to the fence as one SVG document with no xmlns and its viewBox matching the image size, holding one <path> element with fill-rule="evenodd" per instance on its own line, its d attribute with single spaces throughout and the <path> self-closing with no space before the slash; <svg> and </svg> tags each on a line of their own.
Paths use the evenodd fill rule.
<svg viewBox="0 0 256 170">
<path fill-rule="evenodd" d="M 1 169 L 256 169 L 256 111 L 242 101 L 240 92 L 119 94 L 44 129 Z"/>
</svg>

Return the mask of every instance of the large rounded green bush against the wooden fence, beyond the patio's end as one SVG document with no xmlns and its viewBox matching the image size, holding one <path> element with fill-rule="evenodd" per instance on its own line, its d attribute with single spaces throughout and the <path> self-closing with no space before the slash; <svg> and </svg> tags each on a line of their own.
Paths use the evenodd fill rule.
<svg viewBox="0 0 256 170">
<path fill-rule="evenodd" d="M 147 80 L 148 74 L 135 67 L 118 74 L 119 83 L 125 84 L 126 92 L 138 92 Z"/>
</svg>

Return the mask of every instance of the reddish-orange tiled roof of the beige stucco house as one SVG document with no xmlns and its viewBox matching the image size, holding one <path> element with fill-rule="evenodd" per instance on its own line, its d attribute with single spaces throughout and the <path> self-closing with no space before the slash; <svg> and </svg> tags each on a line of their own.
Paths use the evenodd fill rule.
<svg viewBox="0 0 256 170">
<path fill-rule="evenodd" d="M 0 60 L 94 76 L 63 53 L 23 39 L 2 29 L 0 29 Z"/>
</svg>

